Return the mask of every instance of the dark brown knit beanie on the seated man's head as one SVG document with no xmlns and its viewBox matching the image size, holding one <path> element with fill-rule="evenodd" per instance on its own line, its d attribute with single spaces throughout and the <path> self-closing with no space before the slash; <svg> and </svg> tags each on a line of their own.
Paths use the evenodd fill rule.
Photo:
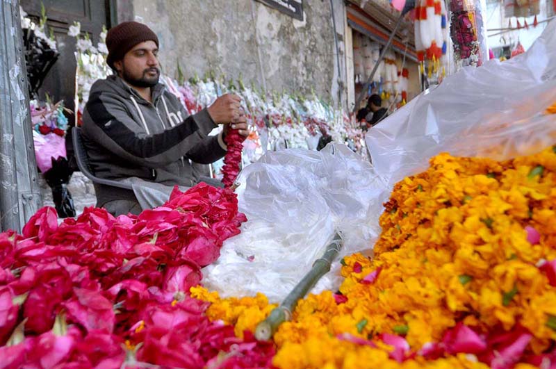
<svg viewBox="0 0 556 369">
<path fill-rule="evenodd" d="M 151 28 L 138 22 L 123 22 L 110 28 L 106 35 L 106 48 L 108 57 L 106 63 L 114 69 L 114 62 L 124 57 L 127 51 L 136 44 L 145 41 L 154 41 L 158 47 L 158 37 Z"/>
</svg>

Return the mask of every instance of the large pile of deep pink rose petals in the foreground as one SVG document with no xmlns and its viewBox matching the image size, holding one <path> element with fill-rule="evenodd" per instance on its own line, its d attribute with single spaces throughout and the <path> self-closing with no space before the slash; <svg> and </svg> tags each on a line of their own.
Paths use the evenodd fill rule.
<svg viewBox="0 0 556 369">
<path fill-rule="evenodd" d="M 202 183 L 140 215 L 42 208 L 0 233 L 0 369 L 257 368 L 272 343 L 241 341 L 188 297 L 245 222 L 236 195 Z"/>
</svg>

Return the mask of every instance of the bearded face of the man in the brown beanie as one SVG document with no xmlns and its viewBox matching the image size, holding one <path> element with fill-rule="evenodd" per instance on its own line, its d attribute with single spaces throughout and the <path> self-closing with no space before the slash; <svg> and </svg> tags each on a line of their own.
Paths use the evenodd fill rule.
<svg viewBox="0 0 556 369">
<path fill-rule="evenodd" d="M 114 62 L 118 75 L 136 87 L 152 87 L 158 83 L 161 74 L 158 64 L 158 47 L 154 41 L 136 44 L 122 60 Z"/>
</svg>

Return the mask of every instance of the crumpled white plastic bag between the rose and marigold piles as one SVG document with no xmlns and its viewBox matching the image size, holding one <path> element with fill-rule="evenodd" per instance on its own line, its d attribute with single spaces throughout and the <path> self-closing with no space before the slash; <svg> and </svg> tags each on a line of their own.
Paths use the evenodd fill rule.
<svg viewBox="0 0 556 369">
<path fill-rule="evenodd" d="M 370 163 L 345 145 L 268 152 L 238 181 L 248 220 L 204 268 L 203 284 L 222 296 L 262 292 L 275 302 L 311 269 L 336 230 L 343 233 L 341 255 L 369 249 L 379 232 L 373 209 L 388 196 Z M 338 287 L 339 260 L 313 292 Z"/>
</svg>

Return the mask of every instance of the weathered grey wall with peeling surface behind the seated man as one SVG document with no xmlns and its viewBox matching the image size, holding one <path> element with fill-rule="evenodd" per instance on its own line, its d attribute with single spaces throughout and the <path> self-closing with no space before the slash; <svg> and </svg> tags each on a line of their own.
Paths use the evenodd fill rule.
<svg viewBox="0 0 556 369">
<path fill-rule="evenodd" d="M 327 101 L 347 101 L 341 82 L 345 61 L 341 55 L 338 73 L 329 0 L 305 0 L 303 21 L 254 0 L 117 3 L 119 22 L 135 19 L 157 33 L 161 63 L 170 76 L 176 76 L 179 62 L 186 78 L 213 70 L 269 91 L 314 90 Z M 334 7 L 342 49 L 343 1 L 334 0 Z"/>
</svg>

